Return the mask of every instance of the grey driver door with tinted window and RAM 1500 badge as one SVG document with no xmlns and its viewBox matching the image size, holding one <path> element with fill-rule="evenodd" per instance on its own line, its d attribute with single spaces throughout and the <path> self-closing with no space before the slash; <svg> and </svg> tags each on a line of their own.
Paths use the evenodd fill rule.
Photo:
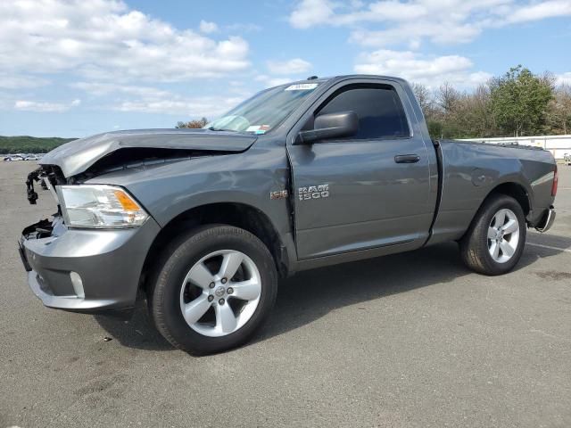
<svg viewBox="0 0 571 428">
<path fill-rule="evenodd" d="M 334 86 L 303 119 L 308 129 L 320 114 L 355 111 L 359 131 L 287 147 L 299 259 L 426 240 L 436 193 L 406 96 L 394 82 L 360 80 Z"/>
</svg>

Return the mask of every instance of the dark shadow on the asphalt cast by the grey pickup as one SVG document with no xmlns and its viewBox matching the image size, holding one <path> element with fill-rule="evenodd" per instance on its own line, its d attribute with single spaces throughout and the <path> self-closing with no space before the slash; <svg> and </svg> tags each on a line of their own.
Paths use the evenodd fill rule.
<svg viewBox="0 0 571 428">
<path fill-rule="evenodd" d="M 551 240 L 557 242 L 559 248 L 571 247 L 571 239 L 567 237 L 551 237 Z M 540 240 L 535 237 L 534 242 Z M 559 252 L 526 246 L 515 271 L 532 265 L 540 257 L 550 257 Z M 456 243 L 443 243 L 417 251 L 301 272 L 281 281 L 276 307 L 251 343 L 308 325 L 338 308 L 448 283 L 468 275 L 476 274 L 462 264 Z M 174 350 L 155 330 L 148 317 L 145 301 L 137 304 L 129 321 L 104 316 L 95 316 L 95 320 L 113 338 L 129 348 Z"/>
</svg>

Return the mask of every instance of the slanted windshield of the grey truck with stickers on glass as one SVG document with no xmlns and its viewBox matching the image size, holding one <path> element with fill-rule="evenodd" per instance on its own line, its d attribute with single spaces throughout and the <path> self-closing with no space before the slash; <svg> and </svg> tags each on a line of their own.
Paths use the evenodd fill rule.
<svg viewBox="0 0 571 428">
<path fill-rule="evenodd" d="M 301 83 L 272 87 L 253 95 L 204 128 L 265 134 L 276 128 L 318 86 L 319 83 Z"/>
</svg>

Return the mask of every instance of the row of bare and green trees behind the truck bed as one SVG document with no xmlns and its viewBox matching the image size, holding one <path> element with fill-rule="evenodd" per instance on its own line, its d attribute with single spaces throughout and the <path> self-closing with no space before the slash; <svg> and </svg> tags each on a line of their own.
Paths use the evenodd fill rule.
<svg viewBox="0 0 571 428">
<path fill-rule="evenodd" d="M 549 72 L 535 75 L 518 65 L 471 92 L 449 83 L 412 88 L 435 138 L 571 133 L 571 86 L 557 85 Z"/>
</svg>

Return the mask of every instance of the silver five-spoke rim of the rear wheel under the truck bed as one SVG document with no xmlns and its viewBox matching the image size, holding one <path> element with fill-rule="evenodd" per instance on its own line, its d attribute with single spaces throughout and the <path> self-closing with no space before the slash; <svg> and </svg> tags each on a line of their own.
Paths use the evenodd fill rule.
<svg viewBox="0 0 571 428">
<path fill-rule="evenodd" d="M 517 251 L 519 243 L 519 222 L 514 211 L 501 209 L 493 216 L 488 227 L 488 251 L 492 259 L 505 263 Z"/>
</svg>

